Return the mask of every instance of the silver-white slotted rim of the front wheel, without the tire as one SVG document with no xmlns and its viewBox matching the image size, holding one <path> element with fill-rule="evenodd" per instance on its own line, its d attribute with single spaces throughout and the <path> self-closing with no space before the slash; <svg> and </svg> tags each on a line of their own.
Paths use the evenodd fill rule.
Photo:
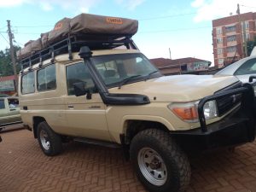
<svg viewBox="0 0 256 192">
<path fill-rule="evenodd" d="M 143 176 L 156 186 L 166 183 L 167 169 L 164 160 L 152 148 L 142 148 L 137 155 L 138 166 Z"/>
</svg>

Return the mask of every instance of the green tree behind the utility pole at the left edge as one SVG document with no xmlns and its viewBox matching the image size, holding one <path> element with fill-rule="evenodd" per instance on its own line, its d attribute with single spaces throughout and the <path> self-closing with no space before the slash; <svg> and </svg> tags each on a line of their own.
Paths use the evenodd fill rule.
<svg viewBox="0 0 256 192">
<path fill-rule="evenodd" d="M 19 50 L 20 47 L 15 46 L 15 54 L 16 51 Z M 19 73 L 20 67 L 17 66 L 17 73 Z M 0 76 L 8 76 L 8 75 L 13 75 L 14 70 L 13 70 L 13 65 L 11 61 L 11 56 L 10 56 L 10 50 L 5 49 L 5 50 L 0 50 Z"/>
</svg>

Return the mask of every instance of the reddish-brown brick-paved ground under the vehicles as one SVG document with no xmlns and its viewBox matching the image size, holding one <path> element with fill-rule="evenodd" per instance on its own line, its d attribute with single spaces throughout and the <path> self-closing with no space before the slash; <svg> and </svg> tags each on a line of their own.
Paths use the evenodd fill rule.
<svg viewBox="0 0 256 192">
<path fill-rule="evenodd" d="M 0 191 L 145 191 L 119 149 L 68 143 L 47 157 L 32 132 L 1 132 Z M 187 192 L 256 192 L 256 142 L 191 160 Z"/>
</svg>

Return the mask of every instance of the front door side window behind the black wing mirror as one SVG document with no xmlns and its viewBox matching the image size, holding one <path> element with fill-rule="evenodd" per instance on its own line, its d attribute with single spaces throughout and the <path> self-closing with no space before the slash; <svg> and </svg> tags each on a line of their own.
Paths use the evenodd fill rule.
<svg viewBox="0 0 256 192">
<path fill-rule="evenodd" d="M 92 93 L 96 92 L 95 84 L 90 77 L 88 67 L 83 62 L 67 66 L 66 73 L 68 95 L 74 95 L 73 84 L 79 82 L 85 83 L 85 89 L 90 89 Z"/>
</svg>

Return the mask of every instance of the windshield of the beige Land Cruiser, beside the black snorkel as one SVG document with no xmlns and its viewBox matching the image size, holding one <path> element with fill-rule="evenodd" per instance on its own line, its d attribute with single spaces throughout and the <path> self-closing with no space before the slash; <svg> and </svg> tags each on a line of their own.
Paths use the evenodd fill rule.
<svg viewBox="0 0 256 192">
<path fill-rule="evenodd" d="M 143 54 L 100 55 L 92 61 L 108 87 L 161 76 Z"/>
</svg>

